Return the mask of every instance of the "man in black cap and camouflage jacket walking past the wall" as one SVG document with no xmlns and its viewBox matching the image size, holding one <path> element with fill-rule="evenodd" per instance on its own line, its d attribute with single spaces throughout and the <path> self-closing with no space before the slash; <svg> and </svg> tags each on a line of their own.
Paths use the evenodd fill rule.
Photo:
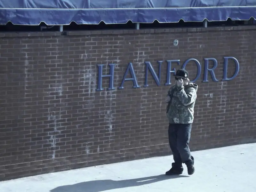
<svg viewBox="0 0 256 192">
<path fill-rule="evenodd" d="M 176 84 L 168 91 L 166 115 L 169 119 L 168 137 L 174 163 L 166 175 L 180 175 L 183 172 L 182 163 L 187 165 L 188 174 L 195 172 L 194 157 L 190 154 L 191 127 L 194 120 L 194 106 L 198 85 L 189 82 L 188 71 L 177 70 Z"/>
</svg>

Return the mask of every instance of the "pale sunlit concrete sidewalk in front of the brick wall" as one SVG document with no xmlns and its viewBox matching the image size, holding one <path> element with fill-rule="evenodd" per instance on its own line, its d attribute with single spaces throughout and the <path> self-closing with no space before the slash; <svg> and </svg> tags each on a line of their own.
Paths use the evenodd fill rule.
<svg viewBox="0 0 256 192">
<path fill-rule="evenodd" d="M 0 182 L 1 192 L 256 192 L 256 143 L 192 152 L 196 172 L 165 176 L 172 156 Z"/>
</svg>

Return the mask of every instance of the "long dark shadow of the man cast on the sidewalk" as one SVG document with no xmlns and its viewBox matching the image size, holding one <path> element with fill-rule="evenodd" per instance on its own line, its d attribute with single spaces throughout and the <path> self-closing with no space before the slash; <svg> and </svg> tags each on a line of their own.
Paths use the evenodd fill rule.
<svg viewBox="0 0 256 192">
<path fill-rule="evenodd" d="M 110 189 L 125 188 L 125 187 L 135 187 L 141 185 L 147 185 L 150 183 L 155 183 L 162 180 L 188 177 L 184 175 L 156 175 L 137 179 L 128 180 L 92 180 L 77 183 L 74 185 L 64 185 L 51 190 L 51 192 L 100 192 Z"/>
</svg>

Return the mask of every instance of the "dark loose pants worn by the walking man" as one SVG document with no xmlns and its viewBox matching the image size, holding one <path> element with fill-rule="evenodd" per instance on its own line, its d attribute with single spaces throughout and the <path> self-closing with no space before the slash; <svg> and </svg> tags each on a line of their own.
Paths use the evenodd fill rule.
<svg viewBox="0 0 256 192">
<path fill-rule="evenodd" d="M 169 124 L 168 136 L 176 165 L 181 166 L 194 164 L 194 158 L 190 154 L 188 143 L 190 141 L 191 124 Z"/>
</svg>

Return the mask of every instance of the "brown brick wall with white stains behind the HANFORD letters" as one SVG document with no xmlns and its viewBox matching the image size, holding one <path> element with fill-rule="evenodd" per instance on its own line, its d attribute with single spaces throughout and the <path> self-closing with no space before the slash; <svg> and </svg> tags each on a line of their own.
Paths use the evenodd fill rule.
<svg viewBox="0 0 256 192">
<path fill-rule="evenodd" d="M 255 142 L 255 33 L 256 26 L 0 34 L 0 179 L 170 154 L 166 60 L 202 66 L 192 150 Z M 225 56 L 240 63 L 230 81 L 221 81 Z M 218 82 L 210 73 L 202 82 L 204 58 L 217 59 Z M 160 85 L 149 72 L 144 87 L 144 62 L 158 74 L 159 60 Z M 125 81 L 118 89 L 129 62 L 140 88 Z M 97 64 L 106 75 L 111 63 L 116 89 L 104 77 L 97 91 Z M 193 80 L 196 64 L 186 69 Z M 228 77 L 234 71 L 231 60 Z"/>
</svg>

